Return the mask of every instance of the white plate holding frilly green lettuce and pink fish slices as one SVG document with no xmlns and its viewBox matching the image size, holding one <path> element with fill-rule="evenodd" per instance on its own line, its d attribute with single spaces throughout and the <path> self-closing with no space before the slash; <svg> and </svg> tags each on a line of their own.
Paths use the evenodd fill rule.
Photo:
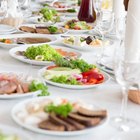
<svg viewBox="0 0 140 140">
<path fill-rule="evenodd" d="M 18 51 L 25 51 L 28 47 L 30 47 L 31 45 L 24 45 L 22 47 L 15 47 L 15 48 L 12 48 L 10 49 L 9 51 L 9 54 L 10 56 L 12 56 L 13 58 L 21 61 L 21 62 L 25 62 L 25 63 L 28 63 L 28 64 L 33 64 L 33 65 L 50 65 L 50 64 L 53 64 L 52 61 L 37 61 L 37 60 L 31 60 L 31 59 L 28 59 L 26 58 L 25 56 L 23 55 L 19 55 L 17 54 Z M 34 45 L 34 46 L 37 46 L 37 45 Z M 52 46 L 53 47 L 53 46 Z M 54 48 L 60 48 L 60 49 L 64 49 L 64 51 L 68 51 L 68 52 L 75 52 L 74 50 L 71 50 L 71 49 L 67 49 L 65 47 L 59 47 L 59 46 L 54 46 Z M 75 52 L 76 55 L 78 57 L 81 56 L 81 54 L 79 52 Z"/>
</svg>

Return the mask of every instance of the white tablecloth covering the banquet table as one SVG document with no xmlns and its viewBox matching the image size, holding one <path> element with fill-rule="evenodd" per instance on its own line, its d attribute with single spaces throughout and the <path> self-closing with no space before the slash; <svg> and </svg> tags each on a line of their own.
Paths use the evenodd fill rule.
<svg viewBox="0 0 140 140">
<path fill-rule="evenodd" d="M 60 42 L 55 42 L 56 45 L 60 45 Z M 94 57 L 92 52 L 81 52 L 82 58 L 90 63 L 94 63 Z M 0 72 L 3 71 L 13 71 L 13 72 L 23 72 L 33 76 L 37 76 L 38 70 L 41 66 L 33 66 L 30 64 L 22 63 L 20 61 L 12 58 L 7 49 L 0 48 Z M 109 82 L 91 89 L 85 90 L 70 90 L 59 88 L 55 86 L 48 85 L 50 96 L 64 97 L 64 98 L 74 98 L 76 100 L 82 100 L 86 103 L 95 104 L 101 108 L 105 108 L 108 111 L 108 119 L 105 124 L 95 127 L 91 133 L 78 135 L 78 136 L 51 136 L 42 135 L 39 133 L 31 132 L 26 130 L 19 125 L 17 125 L 11 118 L 11 109 L 18 102 L 24 99 L 11 99 L 11 100 L 0 100 L 0 123 L 14 126 L 26 134 L 29 134 L 33 140 L 111 140 L 112 137 L 117 136 L 121 131 L 113 128 L 110 124 L 110 118 L 119 115 L 121 109 L 121 99 L 122 94 L 120 86 L 116 83 L 114 78 L 111 78 Z M 128 101 L 127 116 L 133 118 L 140 123 L 140 109 L 139 105 Z M 136 129 L 139 129 L 137 125 Z"/>
</svg>

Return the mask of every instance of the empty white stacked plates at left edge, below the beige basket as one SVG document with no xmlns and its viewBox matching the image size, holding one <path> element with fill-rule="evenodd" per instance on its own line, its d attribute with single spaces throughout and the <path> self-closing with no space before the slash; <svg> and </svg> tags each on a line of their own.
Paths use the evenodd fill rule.
<svg viewBox="0 0 140 140">
<path fill-rule="evenodd" d="M 9 26 L 9 25 L 4 25 L 4 24 L 0 24 L 0 34 L 12 34 L 14 32 L 16 32 L 16 28 Z"/>
</svg>

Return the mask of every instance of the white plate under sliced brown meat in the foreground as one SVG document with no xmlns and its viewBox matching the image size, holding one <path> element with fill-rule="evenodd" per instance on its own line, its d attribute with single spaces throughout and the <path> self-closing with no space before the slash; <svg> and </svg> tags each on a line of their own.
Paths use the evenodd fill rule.
<svg viewBox="0 0 140 140">
<path fill-rule="evenodd" d="M 49 130 L 43 130 L 43 129 L 40 129 L 38 128 L 36 125 L 33 126 L 33 125 L 29 125 L 29 124 L 25 124 L 24 122 L 21 121 L 21 119 L 17 116 L 17 113 L 19 111 L 21 111 L 21 109 L 25 109 L 25 106 L 28 104 L 28 103 L 31 103 L 31 102 L 38 102 L 38 101 L 43 101 L 44 99 L 50 101 L 54 101 L 56 100 L 56 97 L 38 97 L 38 98 L 33 98 L 33 99 L 28 99 L 28 100 L 25 100 L 25 101 L 22 101 L 20 103 L 18 103 L 17 105 L 14 106 L 14 108 L 12 109 L 11 111 L 11 115 L 12 115 L 12 118 L 13 120 L 20 126 L 28 129 L 28 130 L 31 130 L 33 132 L 36 132 L 36 133 L 40 133 L 40 134 L 45 134 L 45 135 L 56 135 L 56 136 L 75 136 L 75 135 L 83 135 L 83 134 L 87 134 L 87 133 L 92 133 L 96 127 L 98 126 L 101 126 L 103 123 L 106 122 L 107 119 L 104 119 L 99 125 L 95 126 L 95 127 L 92 127 L 92 128 L 87 128 L 87 129 L 84 129 L 84 130 L 79 130 L 79 131 L 63 131 L 63 132 L 59 132 L 59 131 L 49 131 Z M 69 100 L 69 101 L 74 101 L 74 100 Z M 85 103 L 84 103 L 85 105 Z M 94 106 L 94 105 L 89 105 L 89 104 L 86 104 L 87 106 L 92 106 L 93 108 L 95 109 L 99 109 L 99 107 L 97 106 Z M 100 108 L 101 109 L 101 108 Z"/>
</svg>

